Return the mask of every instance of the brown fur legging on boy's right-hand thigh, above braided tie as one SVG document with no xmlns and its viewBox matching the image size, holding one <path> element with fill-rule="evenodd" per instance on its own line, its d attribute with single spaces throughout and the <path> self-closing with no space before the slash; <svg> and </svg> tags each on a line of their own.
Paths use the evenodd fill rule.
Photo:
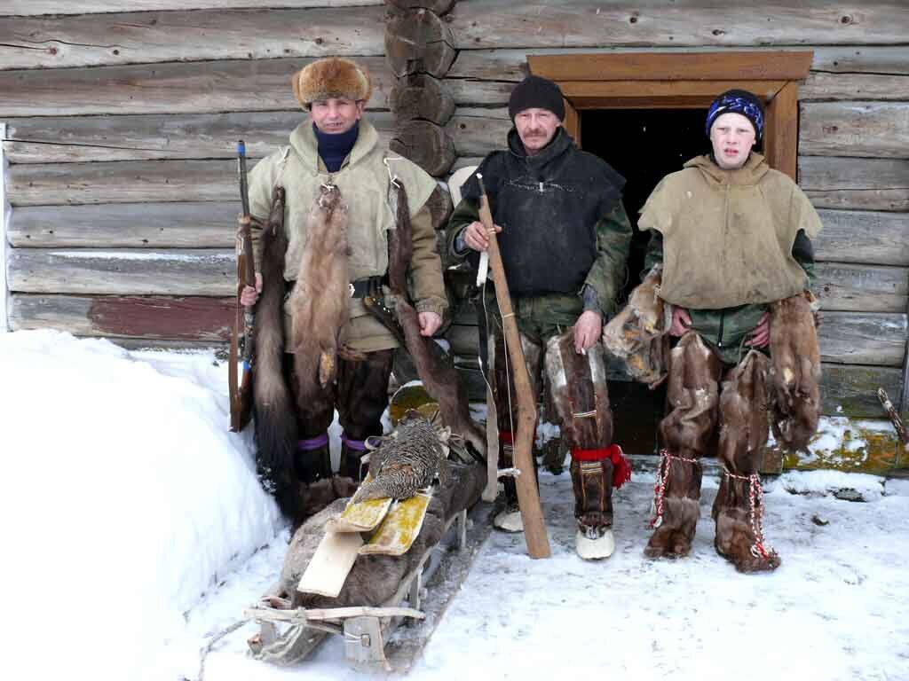
<svg viewBox="0 0 909 681">
<path fill-rule="evenodd" d="M 726 469 L 735 473 L 754 473 L 767 443 L 768 368 L 769 360 L 751 350 L 723 381 L 717 456 Z"/>
</svg>

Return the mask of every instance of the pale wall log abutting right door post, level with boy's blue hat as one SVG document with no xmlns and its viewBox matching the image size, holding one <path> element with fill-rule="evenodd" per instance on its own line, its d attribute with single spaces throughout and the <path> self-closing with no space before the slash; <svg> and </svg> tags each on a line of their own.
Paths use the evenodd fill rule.
<svg viewBox="0 0 909 681">
<path fill-rule="evenodd" d="M 802 104 L 799 153 L 909 158 L 909 103 Z"/>
</svg>

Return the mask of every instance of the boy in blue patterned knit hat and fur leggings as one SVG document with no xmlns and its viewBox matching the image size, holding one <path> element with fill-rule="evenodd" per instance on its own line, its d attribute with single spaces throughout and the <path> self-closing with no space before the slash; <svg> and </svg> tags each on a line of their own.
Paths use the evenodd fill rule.
<svg viewBox="0 0 909 681">
<path fill-rule="evenodd" d="M 719 427 L 724 467 L 715 547 L 745 572 L 780 564 L 762 531 L 757 476 L 767 410 L 779 442 L 801 449 L 819 415 L 820 360 L 810 237 L 821 221 L 798 186 L 752 150 L 764 131 L 754 94 L 719 95 L 707 114 L 712 153 L 667 175 L 638 225 L 653 230 L 645 271 L 660 266 L 669 360 L 668 414 L 645 553 L 687 555 L 701 494 L 700 457 Z M 770 359 L 768 359 L 768 354 Z M 722 381 L 722 383 L 721 383 Z"/>
</svg>

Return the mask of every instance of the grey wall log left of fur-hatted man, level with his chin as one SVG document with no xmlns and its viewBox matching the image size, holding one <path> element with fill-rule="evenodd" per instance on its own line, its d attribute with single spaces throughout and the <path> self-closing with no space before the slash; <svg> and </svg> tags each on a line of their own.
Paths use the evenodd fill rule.
<svg viewBox="0 0 909 681">
<path fill-rule="evenodd" d="M 75 163 L 165 158 L 234 158 L 236 141 L 245 140 L 250 159 L 287 144 L 308 114 L 286 112 L 235 114 L 152 114 L 11 119 L 5 153 L 10 163 Z M 366 114 L 383 143 L 391 141 L 395 117 Z"/>
</svg>

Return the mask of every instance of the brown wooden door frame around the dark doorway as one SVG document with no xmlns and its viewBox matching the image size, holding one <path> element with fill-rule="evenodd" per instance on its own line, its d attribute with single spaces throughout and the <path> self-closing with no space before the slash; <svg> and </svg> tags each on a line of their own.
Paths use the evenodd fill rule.
<svg viewBox="0 0 909 681">
<path fill-rule="evenodd" d="M 584 109 L 705 109 L 730 88 L 766 107 L 764 156 L 797 180 L 798 82 L 814 52 L 529 54 L 530 73 L 559 85 L 565 130 L 581 144 Z"/>
</svg>

